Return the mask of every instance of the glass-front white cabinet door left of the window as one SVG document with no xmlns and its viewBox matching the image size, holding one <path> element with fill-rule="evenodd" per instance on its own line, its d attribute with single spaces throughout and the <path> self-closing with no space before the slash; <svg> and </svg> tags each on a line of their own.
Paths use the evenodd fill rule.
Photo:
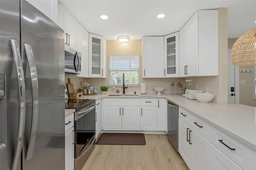
<svg viewBox="0 0 256 170">
<path fill-rule="evenodd" d="M 103 77 L 103 39 L 89 34 L 89 77 Z"/>
</svg>

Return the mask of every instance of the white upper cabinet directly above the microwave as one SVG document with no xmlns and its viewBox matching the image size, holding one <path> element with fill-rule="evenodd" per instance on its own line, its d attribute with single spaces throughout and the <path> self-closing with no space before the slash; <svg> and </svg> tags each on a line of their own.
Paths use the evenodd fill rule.
<svg viewBox="0 0 256 170">
<path fill-rule="evenodd" d="M 78 50 L 78 22 L 62 5 L 58 5 L 58 26 L 64 29 L 65 49 Z"/>
</svg>

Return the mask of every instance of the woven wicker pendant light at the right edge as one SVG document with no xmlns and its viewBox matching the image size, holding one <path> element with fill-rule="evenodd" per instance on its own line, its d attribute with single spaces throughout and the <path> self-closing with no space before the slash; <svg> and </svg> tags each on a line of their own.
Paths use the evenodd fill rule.
<svg viewBox="0 0 256 170">
<path fill-rule="evenodd" d="M 244 33 L 231 49 L 234 65 L 256 65 L 256 28 Z"/>
</svg>

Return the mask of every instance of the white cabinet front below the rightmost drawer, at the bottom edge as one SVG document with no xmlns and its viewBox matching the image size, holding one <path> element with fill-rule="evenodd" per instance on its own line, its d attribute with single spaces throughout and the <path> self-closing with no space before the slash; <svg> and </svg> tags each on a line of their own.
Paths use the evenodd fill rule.
<svg viewBox="0 0 256 170">
<path fill-rule="evenodd" d="M 211 144 L 211 170 L 242 170 L 230 158 Z"/>
</svg>

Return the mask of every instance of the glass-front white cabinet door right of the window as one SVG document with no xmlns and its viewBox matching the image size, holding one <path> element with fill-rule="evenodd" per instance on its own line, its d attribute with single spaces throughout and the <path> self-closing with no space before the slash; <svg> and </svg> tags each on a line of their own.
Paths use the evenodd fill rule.
<svg viewBox="0 0 256 170">
<path fill-rule="evenodd" d="M 179 32 L 164 36 L 164 77 L 179 76 Z"/>
</svg>

